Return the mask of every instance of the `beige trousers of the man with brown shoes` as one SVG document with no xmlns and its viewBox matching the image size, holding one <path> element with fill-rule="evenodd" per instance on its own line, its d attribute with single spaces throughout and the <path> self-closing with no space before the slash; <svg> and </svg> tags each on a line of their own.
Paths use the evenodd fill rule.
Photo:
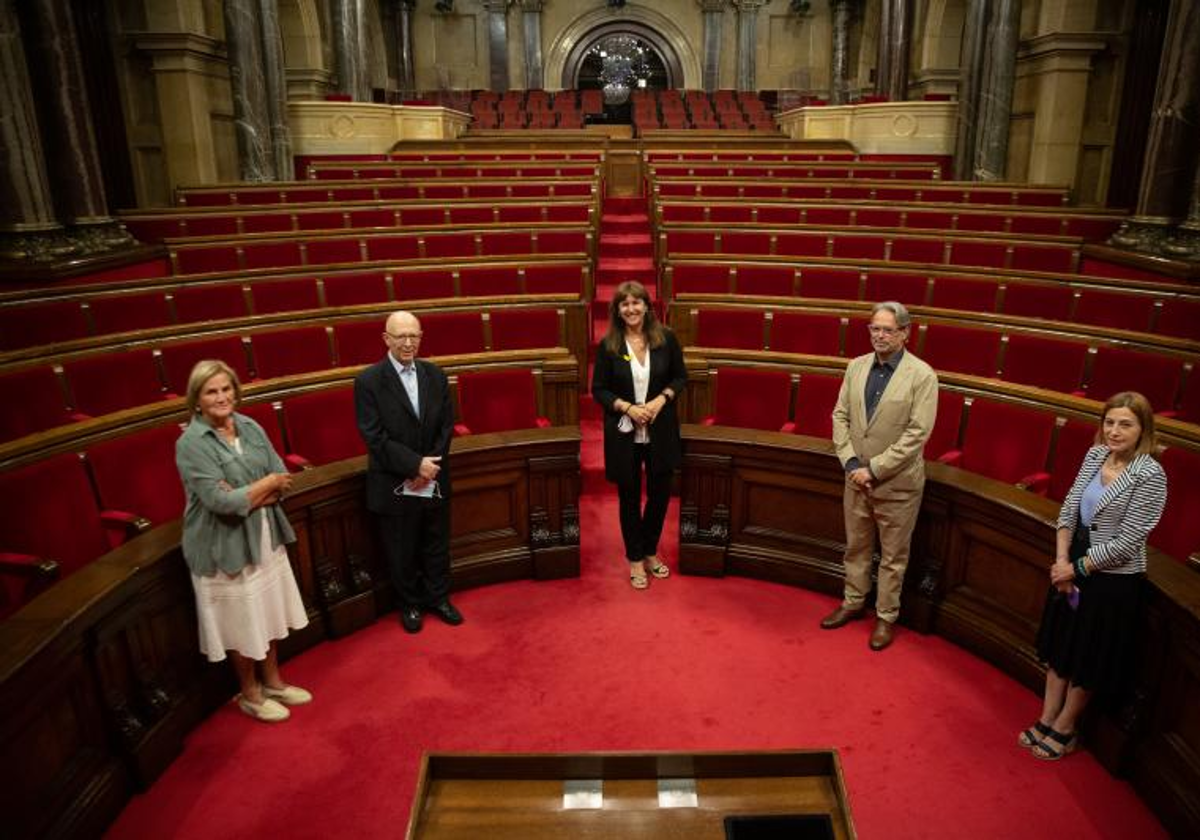
<svg viewBox="0 0 1200 840">
<path fill-rule="evenodd" d="M 846 587 L 842 606 L 862 610 L 871 590 L 871 554 L 875 535 L 880 536 L 880 577 L 875 593 L 875 613 L 884 622 L 900 617 L 900 590 L 908 568 L 912 529 L 920 512 L 922 491 L 900 498 L 880 499 L 858 490 L 850 479 L 842 497 L 846 515 Z"/>
</svg>

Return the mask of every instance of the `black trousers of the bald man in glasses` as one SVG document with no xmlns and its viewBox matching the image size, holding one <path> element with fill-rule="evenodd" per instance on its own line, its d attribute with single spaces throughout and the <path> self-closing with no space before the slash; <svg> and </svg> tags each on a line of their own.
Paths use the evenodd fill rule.
<svg viewBox="0 0 1200 840">
<path fill-rule="evenodd" d="M 450 505 L 406 498 L 401 512 L 379 516 L 388 571 L 401 607 L 431 607 L 450 594 Z"/>
</svg>

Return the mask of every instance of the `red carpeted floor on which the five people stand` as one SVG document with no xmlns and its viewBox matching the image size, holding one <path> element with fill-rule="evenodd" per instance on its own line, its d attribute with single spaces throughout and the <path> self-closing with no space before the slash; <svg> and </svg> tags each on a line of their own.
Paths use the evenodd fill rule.
<svg viewBox="0 0 1200 840">
<path fill-rule="evenodd" d="M 316 702 L 257 724 L 233 706 L 110 838 L 401 836 L 422 750 L 836 746 L 864 838 L 1156 838 L 1132 788 L 1087 752 L 1015 745 L 1038 700 L 936 637 L 817 629 L 834 600 L 674 575 L 635 592 L 586 433 L 580 580 L 460 593 L 462 628 L 395 614 L 288 662 Z M 673 559 L 678 511 L 664 554 Z"/>
</svg>

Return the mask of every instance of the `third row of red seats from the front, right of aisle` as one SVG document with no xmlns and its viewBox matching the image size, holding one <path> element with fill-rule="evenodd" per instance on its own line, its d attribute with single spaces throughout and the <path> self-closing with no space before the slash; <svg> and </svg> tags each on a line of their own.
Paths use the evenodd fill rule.
<svg viewBox="0 0 1200 840">
<path fill-rule="evenodd" d="M 1056 281 L 1019 275 L 914 271 L 871 265 L 671 262 L 661 294 L 715 294 L 827 300 L 899 300 L 934 306 L 1088 324 L 1200 341 L 1200 293 L 1184 286 L 1122 286 L 1097 278 Z"/>
</svg>

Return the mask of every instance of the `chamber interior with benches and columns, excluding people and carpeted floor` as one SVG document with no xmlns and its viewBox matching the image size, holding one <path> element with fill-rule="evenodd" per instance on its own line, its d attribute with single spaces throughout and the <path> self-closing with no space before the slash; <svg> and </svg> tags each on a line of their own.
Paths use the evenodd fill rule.
<svg viewBox="0 0 1200 840">
<path fill-rule="evenodd" d="M 102 834 L 228 701 L 180 546 L 197 361 L 294 474 L 296 656 L 396 607 L 352 392 L 396 310 L 451 383 L 454 587 L 580 576 L 624 280 L 684 349 L 679 570 L 830 595 L 830 413 L 872 304 L 911 310 L 901 622 L 1034 691 L 1058 505 L 1145 394 L 1170 497 L 1085 745 L 1200 833 L 1195 0 L 4 0 L 0 32 L 5 836 Z"/>
</svg>

